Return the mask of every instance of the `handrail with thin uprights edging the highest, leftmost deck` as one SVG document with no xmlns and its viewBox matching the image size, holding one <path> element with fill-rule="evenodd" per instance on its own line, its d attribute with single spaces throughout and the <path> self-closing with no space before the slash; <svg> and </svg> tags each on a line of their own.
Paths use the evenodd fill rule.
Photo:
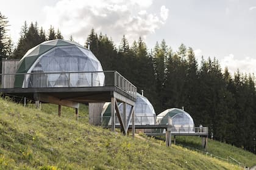
<svg viewBox="0 0 256 170">
<path fill-rule="evenodd" d="M 109 75 L 110 73 L 110 75 Z M 49 80 L 49 75 L 56 75 L 56 74 L 66 74 L 66 78 L 63 80 L 63 84 L 52 84 Z M 72 84 L 71 82 L 76 80 L 76 77 L 72 77 L 76 74 L 81 74 L 84 78 L 84 81 L 87 81 L 86 84 L 79 84 L 77 85 Z M 83 75 L 84 74 L 84 75 Z M 91 74 L 91 75 L 90 75 Z M 113 75 L 112 75 L 113 74 Z M 41 76 L 40 76 L 41 75 Z M 90 75 L 90 76 L 89 76 Z M 116 87 L 115 91 L 119 94 L 128 95 L 132 98 L 136 98 L 137 87 L 134 86 L 130 81 L 123 77 L 120 73 L 114 70 L 108 71 L 95 71 L 95 72 L 33 72 L 33 73 L 3 73 L 0 74 L 2 77 L 2 89 L 10 89 L 14 87 L 14 82 L 16 76 L 23 77 L 23 88 L 29 87 L 95 87 L 95 86 L 113 86 Z M 30 81 L 30 77 L 34 76 L 34 80 Z M 96 76 L 96 77 L 95 77 Z M 101 78 L 99 78 L 99 77 Z M 104 77 L 104 80 L 102 79 Z M 122 82 L 116 81 L 116 78 L 121 78 Z M 60 77 L 59 77 L 60 78 Z M 56 83 L 59 78 L 53 78 L 51 83 Z M 113 79 L 112 79 L 113 78 Z M 4 85 L 4 81 L 8 81 L 7 85 Z M 34 81 L 34 82 L 32 82 Z M 6 82 L 5 82 L 6 83 Z M 29 85 L 30 83 L 30 85 Z M 41 84 L 40 84 L 41 83 Z"/>
</svg>

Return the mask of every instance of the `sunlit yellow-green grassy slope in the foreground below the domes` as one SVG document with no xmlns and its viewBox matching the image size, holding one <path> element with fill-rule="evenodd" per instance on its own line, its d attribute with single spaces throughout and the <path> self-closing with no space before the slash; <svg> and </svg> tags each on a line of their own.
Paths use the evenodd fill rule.
<svg viewBox="0 0 256 170">
<path fill-rule="evenodd" d="M 67 107 L 62 117 L 49 104 L 40 111 L 0 99 L 0 108 L 0 169 L 239 169 L 163 141 L 123 137 L 86 118 L 77 122 Z"/>
</svg>

